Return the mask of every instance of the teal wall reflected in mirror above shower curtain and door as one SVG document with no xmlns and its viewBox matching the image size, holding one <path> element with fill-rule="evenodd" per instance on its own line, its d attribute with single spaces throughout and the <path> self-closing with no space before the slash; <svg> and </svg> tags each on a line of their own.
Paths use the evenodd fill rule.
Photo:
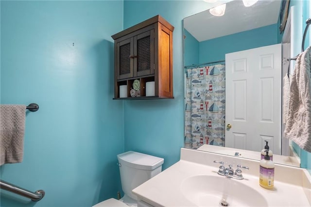
<svg viewBox="0 0 311 207">
<path fill-rule="evenodd" d="M 225 54 L 281 43 L 277 24 L 198 42 L 184 30 L 185 66 L 225 60 Z"/>
</svg>

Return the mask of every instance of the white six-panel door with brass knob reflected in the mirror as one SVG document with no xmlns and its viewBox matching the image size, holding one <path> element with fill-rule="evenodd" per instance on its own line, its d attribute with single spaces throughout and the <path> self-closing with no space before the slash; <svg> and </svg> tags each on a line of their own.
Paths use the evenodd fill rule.
<svg viewBox="0 0 311 207">
<path fill-rule="evenodd" d="M 225 55 L 225 146 L 281 154 L 281 44 Z M 231 128 L 228 124 L 231 124 Z"/>
</svg>

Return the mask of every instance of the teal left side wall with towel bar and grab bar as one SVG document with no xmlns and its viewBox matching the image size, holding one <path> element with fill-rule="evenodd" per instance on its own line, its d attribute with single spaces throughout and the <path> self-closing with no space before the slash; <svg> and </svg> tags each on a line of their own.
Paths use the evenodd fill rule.
<svg viewBox="0 0 311 207">
<path fill-rule="evenodd" d="M 116 197 L 123 103 L 112 100 L 110 36 L 123 29 L 123 1 L 0 5 L 1 104 L 40 106 L 26 114 L 23 162 L 1 166 L 1 179 L 46 192 L 31 202 L 1 190 L 1 207 L 89 207 Z"/>
</svg>

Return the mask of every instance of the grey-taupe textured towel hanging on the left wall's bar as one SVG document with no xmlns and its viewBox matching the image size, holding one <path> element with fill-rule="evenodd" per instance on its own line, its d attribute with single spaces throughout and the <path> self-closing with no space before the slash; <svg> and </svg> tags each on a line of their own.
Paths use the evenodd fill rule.
<svg viewBox="0 0 311 207">
<path fill-rule="evenodd" d="M 0 165 L 23 161 L 26 105 L 0 105 Z"/>
</svg>

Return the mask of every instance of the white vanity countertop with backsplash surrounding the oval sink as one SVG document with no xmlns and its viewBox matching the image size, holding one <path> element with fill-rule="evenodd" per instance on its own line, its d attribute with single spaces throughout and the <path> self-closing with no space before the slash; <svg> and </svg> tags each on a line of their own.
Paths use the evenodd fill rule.
<svg viewBox="0 0 311 207">
<path fill-rule="evenodd" d="M 133 190 L 133 193 L 138 196 L 138 200 L 143 200 L 155 207 L 163 206 L 163 207 L 190 207 L 190 206 L 198 206 L 191 202 L 190 199 L 187 199 L 186 195 L 183 194 L 181 190 L 181 184 L 185 181 L 186 178 L 195 175 L 213 175 L 220 176 L 224 179 L 232 179 L 226 178 L 221 175 L 218 175 L 218 167 L 219 164 L 213 163 L 213 160 L 216 158 L 229 160 L 229 162 L 236 162 L 242 165 L 248 164 L 250 168 L 258 167 L 256 171 L 259 172 L 259 162 L 255 162 L 251 164 L 250 162 L 254 162 L 252 160 L 246 160 L 243 158 L 235 158 L 235 157 L 227 157 L 225 155 L 217 155 L 213 153 L 200 152 L 194 150 L 188 150 L 182 148 L 181 160 L 175 163 L 170 168 L 166 169 L 162 173 L 159 173 L 152 179 L 148 180 L 144 184 L 138 186 Z M 184 151 L 184 153 L 183 153 Z M 193 151 L 193 152 L 191 152 Z M 194 153 L 194 154 L 193 154 Z M 192 156 L 193 154 L 193 156 Z M 185 157 L 190 156 L 190 161 Z M 206 164 L 192 162 L 191 159 L 205 160 Z M 197 159 L 196 159 L 197 160 Z M 200 160 L 198 161 L 200 162 Z M 212 164 L 211 164 L 212 163 Z M 232 163 L 234 164 L 234 163 Z M 235 165 L 234 165 L 235 166 Z M 225 167 L 227 164 L 225 162 Z M 283 168 L 282 166 L 281 168 Z M 278 167 L 276 167 L 278 168 Z M 291 167 L 289 167 L 291 168 Z M 309 207 L 311 206 L 307 196 L 311 195 L 310 189 L 310 176 L 308 178 L 303 178 L 303 170 L 299 168 L 293 168 L 294 173 L 288 173 L 287 175 L 283 174 L 280 176 L 280 180 L 275 179 L 273 190 L 267 190 L 259 186 L 259 176 L 256 175 L 256 171 L 250 170 L 250 173 L 247 173 L 246 170 L 243 171 L 244 179 L 237 180 L 236 182 L 241 182 L 244 185 L 247 185 L 254 190 L 258 191 L 268 202 L 269 207 Z M 235 169 L 235 168 L 234 168 Z M 290 169 L 291 170 L 291 169 Z M 301 171 L 301 174 L 299 173 Z M 279 171 L 275 171 L 275 178 L 278 176 Z M 258 173 L 259 174 L 259 173 Z M 297 176 L 298 178 L 292 179 L 291 176 Z M 291 183 L 283 182 L 284 179 L 292 180 Z M 308 185 L 303 185 L 303 182 L 308 182 Z M 304 188 L 303 186 L 307 186 Z M 206 186 L 208 188 L 208 186 Z M 239 189 L 237 189 L 239 190 Z M 250 196 L 250 195 L 244 195 Z M 189 196 L 188 196 L 189 197 Z M 221 197 L 221 195 L 220 195 Z M 311 199 L 310 199 L 311 200 Z M 311 202 L 311 201 L 310 201 Z M 254 201 L 254 206 L 256 206 L 256 201 Z"/>
</svg>

